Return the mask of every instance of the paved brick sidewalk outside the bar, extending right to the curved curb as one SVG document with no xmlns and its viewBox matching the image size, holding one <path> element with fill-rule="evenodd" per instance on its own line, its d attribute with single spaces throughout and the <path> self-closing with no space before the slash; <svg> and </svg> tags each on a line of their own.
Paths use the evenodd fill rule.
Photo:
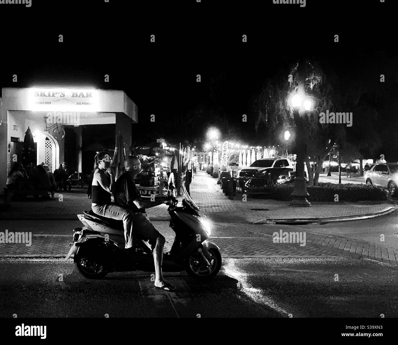
<svg viewBox="0 0 398 345">
<path fill-rule="evenodd" d="M 217 179 L 198 172 L 193 177 L 190 191 L 202 213 L 219 223 L 252 223 L 265 218 L 348 217 L 382 212 L 393 206 L 383 202 L 314 202 L 312 207 L 292 207 L 287 201 L 251 198 L 242 201 L 238 195 L 229 200 L 216 183 Z M 0 219 L 76 219 L 77 214 L 91 209 L 91 199 L 87 199 L 85 189 L 74 188 L 62 193 L 62 201 L 59 201 L 58 193 L 55 197 L 53 201 L 13 201 L 7 212 L 0 212 Z M 170 219 L 166 205 L 152 207 L 147 212 L 152 220 Z"/>
</svg>

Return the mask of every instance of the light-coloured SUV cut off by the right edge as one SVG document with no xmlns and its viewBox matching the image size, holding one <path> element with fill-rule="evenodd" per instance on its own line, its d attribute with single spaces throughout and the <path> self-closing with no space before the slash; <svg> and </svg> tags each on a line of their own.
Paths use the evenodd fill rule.
<svg viewBox="0 0 398 345">
<path fill-rule="evenodd" d="M 390 195 L 398 193 L 398 163 L 377 163 L 365 170 L 365 183 L 387 188 Z"/>
</svg>

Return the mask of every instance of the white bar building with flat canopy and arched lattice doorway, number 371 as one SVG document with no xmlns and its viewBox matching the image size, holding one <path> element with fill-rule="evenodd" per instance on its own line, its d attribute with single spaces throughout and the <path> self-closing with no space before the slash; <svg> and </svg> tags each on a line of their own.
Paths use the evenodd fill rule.
<svg viewBox="0 0 398 345">
<path fill-rule="evenodd" d="M 45 162 L 54 171 L 67 161 L 82 172 L 82 126 L 107 125 L 114 137 L 120 132 L 129 154 L 133 123 L 138 122 L 137 105 L 121 90 L 6 87 L 0 104 L 0 193 L 12 164 L 21 163 L 28 126 L 36 164 Z M 86 127 L 95 133 L 96 126 Z"/>
</svg>

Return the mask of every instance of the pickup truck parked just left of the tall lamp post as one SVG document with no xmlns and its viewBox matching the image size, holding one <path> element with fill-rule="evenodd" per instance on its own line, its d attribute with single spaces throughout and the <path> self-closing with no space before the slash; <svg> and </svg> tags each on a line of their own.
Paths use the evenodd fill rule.
<svg viewBox="0 0 398 345">
<path fill-rule="evenodd" d="M 281 173 L 291 172 L 289 175 L 295 175 L 296 163 L 291 162 L 288 158 L 263 158 L 253 162 L 250 167 L 240 170 L 240 179 L 247 179 L 250 177 L 259 176 L 259 173 L 264 177 L 271 175 L 271 179 L 275 181 Z M 307 167 L 304 165 L 304 177 L 308 178 Z"/>
</svg>

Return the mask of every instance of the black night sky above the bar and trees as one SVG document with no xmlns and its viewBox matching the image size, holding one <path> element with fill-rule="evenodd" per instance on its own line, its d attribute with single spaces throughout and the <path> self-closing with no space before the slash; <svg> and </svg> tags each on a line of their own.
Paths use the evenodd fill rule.
<svg viewBox="0 0 398 345">
<path fill-rule="evenodd" d="M 262 10 L 255 10 L 253 1 L 240 6 L 204 1 L 201 10 L 194 1 L 187 3 L 156 2 L 156 15 L 151 12 L 155 2 L 132 7 L 130 12 L 118 11 L 114 4 L 113 12 L 105 9 L 88 18 L 66 6 L 65 20 L 52 16 L 43 23 L 29 12 L 29 16 L 18 17 L 18 25 L 10 26 L 2 37 L 8 58 L 2 63 L 0 87 L 124 90 L 138 105 L 139 123 L 133 138 L 138 145 L 156 139 L 159 133 L 170 141 L 199 140 L 210 125 L 226 130 L 226 123 L 236 128 L 242 143 L 261 144 L 265 132 L 254 130 L 252 97 L 267 78 L 285 75 L 304 55 L 333 69 L 341 83 L 352 78 L 360 81 L 378 110 L 375 127 L 383 133 L 379 151 L 398 160 L 398 53 L 388 34 L 392 22 L 380 7 L 358 15 L 357 8 L 337 1 L 327 14 L 317 12 L 310 1 L 302 9 L 269 1 Z M 214 6 L 216 3 L 222 6 Z M 29 9 L 31 13 L 42 5 L 36 6 Z M 162 16 L 163 8 L 175 9 L 178 20 Z M 204 14 L 211 19 L 204 21 Z M 34 29 L 29 33 L 31 26 Z M 339 43 L 333 42 L 336 31 Z M 64 43 L 58 43 L 60 32 Z M 150 34 L 156 35 L 156 43 L 150 43 Z M 248 35 L 248 43 L 242 43 L 242 34 Z M 18 83 L 12 83 L 13 74 L 18 75 Z M 103 81 L 105 74 L 110 76 L 109 83 Z M 201 83 L 196 82 L 197 74 L 201 74 Z M 386 75 L 382 85 L 380 74 Z M 199 124 L 184 125 L 187 117 L 200 110 Z M 156 116 L 154 123 L 150 114 Z M 242 114 L 248 115 L 248 123 L 242 123 Z M 172 122 L 184 127 L 182 133 L 176 133 Z"/>
</svg>

